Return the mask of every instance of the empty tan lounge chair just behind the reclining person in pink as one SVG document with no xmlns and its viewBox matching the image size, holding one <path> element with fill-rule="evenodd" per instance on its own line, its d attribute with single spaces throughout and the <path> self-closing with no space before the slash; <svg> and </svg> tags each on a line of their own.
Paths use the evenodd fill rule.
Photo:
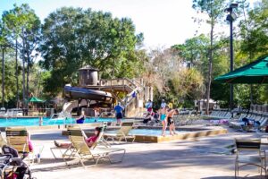
<svg viewBox="0 0 268 179">
<path fill-rule="evenodd" d="M 115 139 L 118 141 L 124 140 L 128 141 L 128 139 L 132 139 L 132 142 L 135 141 L 135 135 L 129 135 L 130 130 L 133 128 L 133 122 L 126 122 L 121 124 L 121 128 L 115 133 L 105 132 L 106 140 L 112 140 L 114 142 Z"/>
</svg>

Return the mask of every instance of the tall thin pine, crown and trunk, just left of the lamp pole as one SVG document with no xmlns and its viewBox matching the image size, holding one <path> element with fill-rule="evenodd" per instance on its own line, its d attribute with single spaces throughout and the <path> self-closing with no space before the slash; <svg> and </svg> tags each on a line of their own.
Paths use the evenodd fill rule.
<svg viewBox="0 0 268 179">
<path fill-rule="evenodd" d="M 224 13 L 225 1 L 222 0 L 193 0 L 193 8 L 198 13 L 205 13 L 208 16 L 206 21 L 210 25 L 210 47 L 208 49 L 208 75 L 206 81 L 206 100 L 210 99 L 210 90 L 213 72 L 214 57 L 214 27 L 222 19 Z M 206 103 L 205 112 L 209 113 L 209 103 Z"/>
</svg>

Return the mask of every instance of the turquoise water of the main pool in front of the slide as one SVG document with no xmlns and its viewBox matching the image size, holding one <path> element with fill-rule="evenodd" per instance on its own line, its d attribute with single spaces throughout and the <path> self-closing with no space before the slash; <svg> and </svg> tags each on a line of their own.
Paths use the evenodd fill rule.
<svg viewBox="0 0 268 179">
<path fill-rule="evenodd" d="M 102 123 L 113 122 L 113 118 L 86 118 L 85 124 L 90 123 Z M 43 117 L 42 125 L 59 125 L 59 124 L 75 124 L 74 118 L 67 119 L 51 119 L 49 117 Z M 12 126 L 38 126 L 39 118 L 0 118 L 0 127 L 12 127 Z"/>
</svg>

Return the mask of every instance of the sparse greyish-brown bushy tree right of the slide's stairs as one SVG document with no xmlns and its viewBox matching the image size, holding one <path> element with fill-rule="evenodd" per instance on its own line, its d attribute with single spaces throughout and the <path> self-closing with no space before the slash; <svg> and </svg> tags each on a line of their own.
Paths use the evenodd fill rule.
<svg viewBox="0 0 268 179">
<path fill-rule="evenodd" d="M 193 99 L 202 94 L 203 76 L 196 67 L 187 68 L 174 47 L 153 49 L 145 66 L 143 79 L 154 87 L 155 107 L 163 98 L 172 101 L 174 107 L 189 101 L 193 107 Z"/>
</svg>

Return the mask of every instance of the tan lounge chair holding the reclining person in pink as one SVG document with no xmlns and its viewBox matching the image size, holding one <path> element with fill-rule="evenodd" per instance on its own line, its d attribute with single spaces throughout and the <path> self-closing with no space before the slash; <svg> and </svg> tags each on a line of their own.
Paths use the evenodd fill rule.
<svg viewBox="0 0 268 179">
<path fill-rule="evenodd" d="M 98 148 L 97 144 L 103 137 L 103 134 L 104 131 L 100 132 L 98 139 L 95 141 L 95 143 L 91 147 L 88 147 L 88 144 L 85 141 L 85 132 L 83 132 L 81 129 L 78 129 L 78 127 L 68 127 L 69 140 L 71 141 L 72 147 L 75 149 L 73 156 L 79 159 L 82 166 L 85 166 L 83 162 L 84 159 L 93 159 L 95 161 L 95 165 L 97 165 L 98 161 L 101 158 L 108 158 L 111 164 L 121 162 L 124 158 L 126 149 L 114 149 L 104 147 Z M 123 154 L 121 156 L 121 159 L 113 161 L 112 158 L 110 158 L 110 154 L 116 152 L 123 152 Z M 63 159 L 66 165 L 68 165 L 65 158 Z"/>
</svg>

